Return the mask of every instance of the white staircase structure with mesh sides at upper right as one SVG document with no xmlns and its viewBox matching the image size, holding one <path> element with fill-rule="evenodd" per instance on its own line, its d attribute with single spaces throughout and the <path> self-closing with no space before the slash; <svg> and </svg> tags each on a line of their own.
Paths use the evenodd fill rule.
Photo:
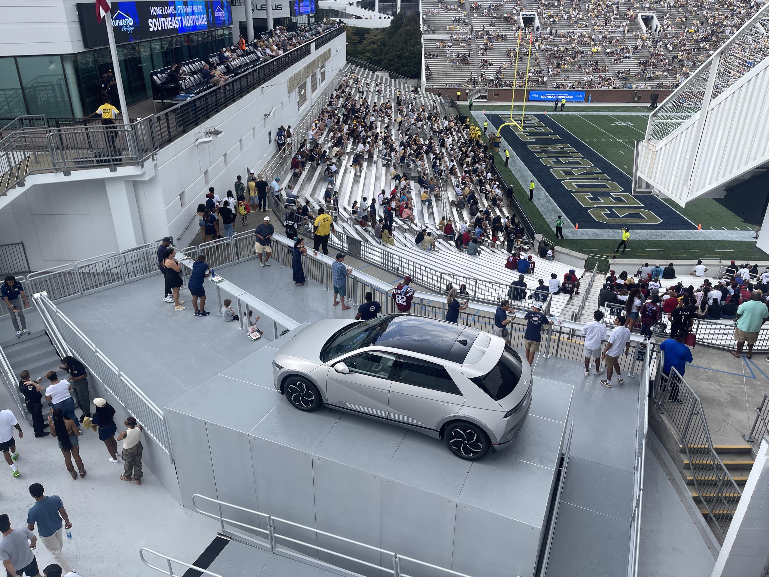
<svg viewBox="0 0 769 577">
<path fill-rule="evenodd" d="M 636 143 L 634 192 L 681 206 L 769 168 L 769 4 L 651 114 Z"/>
</svg>

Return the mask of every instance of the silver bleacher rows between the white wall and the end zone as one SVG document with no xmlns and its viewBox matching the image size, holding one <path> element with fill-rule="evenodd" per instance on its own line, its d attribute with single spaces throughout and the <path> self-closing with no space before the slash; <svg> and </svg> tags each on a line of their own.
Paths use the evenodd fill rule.
<svg viewBox="0 0 769 577">
<path fill-rule="evenodd" d="M 468 255 L 455 248 L 454 242 L 451 242 L 441 231 L 440 224 L 442 218 L 448 217 L 457 222 L 457 230 L 460 228 L 461 222 L 472 222 L 469 218 L 467 206 L 460 209 L 455 204 L 457 195 L 454 191 L 454 185 L 459 183 L 459 178 L 458 175 L 451 174 L 448 171 L 451 146 L 460 144 L 466 138 L 462 128 L 454 125 L 453 118 L 448 117 L 442 103 L 436 100 L 434 95 L 425 94 L 424 92 L 408 92 L 408 87 L 402 83 L 391 80 L 384 75 L 376 75 L 374 72 L 355 67 L 354 65 L 348 65 L 348 72 L 342 79 L 341 89 L 335 95 L 332 95 L 331 102 L 335 106 L 341 106 L 341 97 L 344 94 L 349 95 L 348 103 L 351 102 L 351 99 L 357 100 L 358 108 L 361 105 L 361 98 L 368 102 L 370 112 L 366 115 L 366 119 L 374 128 L 374 130 L 371 130 L 370 126 L 368 132 L 370 134 L 375 132 L 381 139 L 387 138 L 389 135 L 394 145 L 396 145 L 396 152 L 393 155 L 388 155 L 387 151 L 383 152 L 380 140 L 373 145 L 372 154 L 360 155 L 357 166 L 353 166 L 353 161 L 357 155 L 356 148 L 358 142 L 363 143 L 364 138 L 361 138 L 358 142 L 355 142 L 354 138 L 349 138 L 348 142 L 341 146 L 341 150 L 338 153 L 341 155 L 341 158 L 337 163 L 338 171 L 335 174 L 335 185 L 333 187 L 338 193 L 335 202 L 326 202 L 325 200 L 328 182 L 324 179 L 324 162 L 305 162 L 305 168 L 301 171 L 301 174 L 295 174 L 290 165 L 288 165 L 288 162 L 285 162 L 278 169 L 277 174 L 263 175 L 269 179 L 275 176 L 281 177 L 281 186 L 284 188 L 282 200 L 285 203 L 285 208 L 287 210 L 296 209 L 298 206 L 305 205 L 306 201 L 309 201 L 311 212 L 317 215 L 318 208 L 322 206 L 334 215 L 337 231 L 347 235 L 348 238 L 354 238 L 358 242 L 373 243 L 385 251 L 394 253 L 398 258 L 406 258 L 408 262 L 424 265 L 424 267 L 435 271 L 436 278 L 443 272 L 444 276 L 441 278 L 448 278 L 454 284 L 454 288 L 460 288 L 460 285 L 463 283 L 467 284 L 468 279 L 478 279 L 479 282 L 486 282 L 487 284 L 494 283 L 498 291 L 494 294 L 487 292 L 484 298 L 492 301 L 507 298 L 508 285 L 518 280 L 519 273 L 504 267 L 509 255 L 504 250 L 504 243 L 497 242 L 494 244 L 488 240 L 491 235 L 484 234 L 484 238 L 487 238 L 487 241 L 481 245 L 478 255 Z M 428 126 L 418 128 L 417 115 L 414 117 L 414 122 L 410 123 L 408 120 L 401 122 L 401 129 L 399 129 L 397 102 L 401 102 L 406 107 L 412 105 L 415 110 L 424 107 L 426 114 L 427 111 L 431 111 L 431 114 L 434 115 L 434 120 L 441 121 L 439 123 L 441 128 L 434 133 L 431 133 L 431 129 Z M 373 112 L 375 107 L 377 112 Z M 315 143 L 322 150 L 328 153 L 333 152 L 333 148 L 338 142 L 338 135 L 335 135 L 333 131 L 335 122 L 331 122 L 331 128 L 327 128 L 325 124 L 328 106 L 326 108 L 315 119 L 315 123 L 307 135 L 301 133 L 295 135 L 294 139 L 296 142 L 293 143 L 293 146 L 289 145 L 287 147 L 286 156 L 289 154 L 294 155 L 297 152 L 301 154 L 311 149 Z M 401 112 L 401 114 L 404 114 L 404 112 Z M 421 135 L 424 142 L 427 142 L 428 138 L 433 138 L 436 144 L 442 138 L 446 147 L 441 148 L 437 145 L 434 150 L 435 154 L 427 155 L 428 158 L 425 159 L 427 162 L 425 162 L 423 167 L 414 163 L 407 163 L 407 165 L 401 166 L 397 162 L 399 154 L 397 147 L 399 142 L 407 138 L 408 135 Z M 365 145 L 371 145 L 371 142 L 366 142 Z M 438 159 L 438 169 L 431 169 L 430 156 Z M 385 191 L 385 195 L 389 195 L 389 192 L 397 185 L 397 181 L 391 177 L 391 169 L 393 167 L 395 167 L 395 172 L 407 175 L 407 178 L 411 180 L 414 190 L 408 194 L 414 198 L 414 219 L 411 221 L 405 218 L 394 218 L 393 244 L 388 245 L 386 243 L 383 244 L 381 239 L 376 237 L 371 222 L 365 222 L 365 219 L 368 219 L 368 205 L 371 199 L 376 198 L 381 190 Z M 421 193 L 421 188 L 418 185 L 420 174 L 441 182 L 436 188 L 441 194 L 440 202 L 434 197 L 431 198 L 433 200 L 432 206 L 418 201 L 417 197 Z M 461 175 L 461 172 L 458 172 L 458 174 Z M 493 181 L 490 184 L 491 187 L 498 186 Z M 296 200 L 291 198 L 287 201 L 285 198 L 285 192 L 289 185 L 293 195 L 297 197 Z M 497 192 L 499 202 L 495 206 L 491 202 L 487 202 L 487 195 L 484 194 L 481 186 L 474 184 L 474 182 L 466 182 L 465 185 L 471 188 L 471 192 L 478 197 L 481 211 L 488 208 L 490 220 L 491 218 L 498 217 L 500 220 L 504 218 L 511 223 L 514 222 L 514 215 L 511 209 L 503 202 L 504 195 L 500 195 L 501 191 L 498 190 Z M 494 192 L 487 192 L 489 198 L 495 195 Z M 356 204 L 363 207 L 362 213 L 354 213 L 353 206 Z M 377 212 L 378 217 L 381 217 L 382 208 L 377 207 Z M 417 245 L 414 242 L 415 235 L 423 228 L 431 232 L 437 239 L 437 252 L 423 250 L 421 245 Z M 488 225 L 486 225 L 486 228 L 488 228 Z M 309 222 L 305 223 L 304 232 L 311 232 Z M 489 231 L 487 230 L 486 232 Z M 521 252 L 523 258 L 526 258 L 529 252 L 528 246 L 531 246 L 531 243 L 527 242 L 527 239 L 522 238 L 521 242 L 515 245 L 514 250 Z M 557 275 L 559 280 L 563 280 L 564 275 L 571 268 L 561 262 L 548 261 L 545 258 L 539 258 L 538 255 L 533 256 L 536 268 L 534 272 L 524 275 L 527 289 L 524 299 L 518 302 L 519 306 L 531 307 L 534 303 L 533 291 L 538 286 L 539 278 L 542 278 L 545 285 L 547 285 L 548 280 L 551 278 L 551 273 Z M 579 269 L 575 273 L 578 277 L 581 277 L 584 270 Z M 452 276 L 452 274 L 454 275 Z M 438 287 L 438 290 L 445 290 L 445 287 Z M 478 293 L 473 292 L 471 285 L 468 285 L 468 292 L 472 296 L 478 295 Z M 550 312 L 553 315 L 571 320 L 572 313 L 575 314 L 579 308 L 581 298 L 582 295 L 575 295 L 571 299 L 569 295 L 552 295 Z M 513 304 L 515 305 L 516 303 L 514 302 Z"/>
</svg>

